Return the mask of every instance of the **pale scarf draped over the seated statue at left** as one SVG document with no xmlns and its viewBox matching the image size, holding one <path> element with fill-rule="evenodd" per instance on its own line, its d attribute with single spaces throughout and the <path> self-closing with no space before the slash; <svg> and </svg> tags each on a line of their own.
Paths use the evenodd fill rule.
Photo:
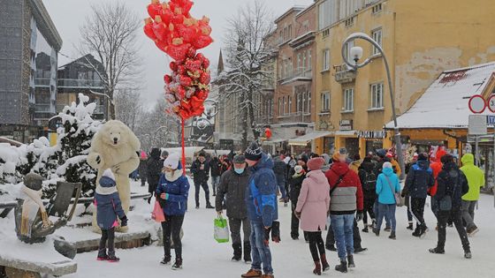
<svg viewBox="0 0 495 278">
<path fill-rule="evenodd" d="M 46 208 L 43 205 L 42 191 L 34 191 L 27 188 L 26 185 L 23 185 L 22 192 L 26 194 L 26 198 L 24 198 L 24 203 L 22 204 L 20 234 L 23 236 L 31 237 L 33 222 L 39 210 L 42 214 L 43 228 L 49 227 L 51 222 L 48 219 Z"/>
</svg>

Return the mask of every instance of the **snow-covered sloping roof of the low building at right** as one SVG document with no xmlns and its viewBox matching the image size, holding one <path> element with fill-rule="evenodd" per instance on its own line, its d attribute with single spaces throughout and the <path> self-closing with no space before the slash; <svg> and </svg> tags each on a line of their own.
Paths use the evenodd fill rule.
<svg viewBox="0 0 495 278">
<path fill-rule="evenodd" d="M 469 98 L 484 94 L 495 78 L 495 62 L 444 71 L 415 104 L 397 118 L 400 129 L 467 128 Z M 491 114 L 485 109 L 484 115 Z M 385 125 L 393 128 L 393 122 Z"/>
</svg>

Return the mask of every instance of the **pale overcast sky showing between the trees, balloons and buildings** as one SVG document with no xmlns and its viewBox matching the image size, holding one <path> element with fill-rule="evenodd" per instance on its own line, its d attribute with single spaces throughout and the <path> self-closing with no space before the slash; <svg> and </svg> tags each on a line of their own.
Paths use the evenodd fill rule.
<svg viewBox="0 0 495 278">
<path fill-rule="evenodd" d="M 134 11 L 138 12 L 142 19 L 148 17 L 146 10 L 150 0 L 42 0 L 50 17 L 57 26 L 58 33 L 64 41 L 64 46 L 60 51 L 62 54 L 77 58 L 74 45 L 80 41 L 79 27 L 84 22 L 86 16 L 91 12 L 91 5 L 102 2 L 123 1 Z M 309 5 L 313 0 L 261 0 L 274 16 L 283 14 L 293 5 Z M 215 40 L 208 48 L 202 52 L 211 60 L 212 66 L 217 65 L 218 53 L 222 47 L 223 33 L 227 19 L 232 18 L 237 10 L 254 0 L 195 0 L 191 14 L 196 19 L 201 19 L 206 15 L 211 19 L 210 25 L 213 28 L 211 36 Z M 145 80 L 142 90 L 142 100 L 148 107 L 153 106 L 158 97 L 163 94 L 163 76 L 168 71 L 170 59 L 161 50 L 157 49 L 155 43 L 149 40 L 145 34 L 139 30 L 139 42 L 141 44 L 141 56 L 143 58 Z M 59 55 L 58 65 L 70 62 L 72 59 Z"/>
</svg>

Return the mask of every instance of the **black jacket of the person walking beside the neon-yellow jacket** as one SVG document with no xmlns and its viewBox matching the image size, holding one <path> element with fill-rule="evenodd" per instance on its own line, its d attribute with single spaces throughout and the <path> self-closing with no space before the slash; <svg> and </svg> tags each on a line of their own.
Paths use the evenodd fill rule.
<svg viewBox="0 0 495 278">
<path fill-rule="evenodd" d="M 461 197 L 469 191 L 468 179 L 461 169 L 453 162 L 446 163 L 438 174 L 437 183 L 437 194 L 434 197 L 437 207 L 440 207 L 440 200 L 448 195 L 452 197 L 452 209 L 460 210 Z"/>
</svg>

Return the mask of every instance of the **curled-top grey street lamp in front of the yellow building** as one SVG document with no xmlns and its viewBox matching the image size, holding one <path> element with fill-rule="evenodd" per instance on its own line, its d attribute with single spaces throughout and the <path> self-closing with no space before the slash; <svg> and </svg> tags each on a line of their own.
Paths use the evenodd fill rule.
<svg viewBox="0 0 495 278">
<path fill-rule="evenodd" d="M 399 131 L 399 124 L 397 124 L 397 114 L 395 113 L 395 98 L 393 96 L 393 87 L 392 87 L 392 77 L 390 74 L 390 68 L 388 65 L 388 60 L 385 56 L 384 49 L 377 43 L 377 41 L 373 40 L 371 37 L 369 37 L 368 34 L 364 33 L 354 33 L 351 34 L 347 37 L 346 41 L 342 43 L 342 58 L 344 59 L 344 63 L 346 63 L 349 67 L 351 67 L 354 71 L 356 71 L 359 68 L 362 68 L 363 66 L 369 64 L 371 62 L 371 59 L 368 57 L 362 64 L 358 64 L 358 61 L 362 58 L 362 48 L 360 47 L 354 47 L 350 49 L 350 56 L 353 56 L 354 58 L 354 64 L 351 64 L 347 60 L 347 54 L 346 54 L 346 44 L 348 41 L 354 41 L 356 39 L 361 39 L 364 41 L 368 41 L 371 43 L 382 55 L 384 58 L 384 63 L 385 63 L 385 70 L 387 73 L 387 79 L 388 79 L 388 86 L 389 86 L 389 92 L 390 92 L 390 100 L 392 101 L 392 118 L 393 118 L 393 131 L 394 131 L 394 139 L 395 139 L 395 148 L 396 148 L 396 153 L 397 157 L 399 158 L 399 165 L 401 169 L 401 175 L 400 178 L 403 179 L 405 177 L 405 167 L 404 167 L 404 154 L 402 153 L 402 142 L 400 141 L 400 131 Z"/>
</svg>

